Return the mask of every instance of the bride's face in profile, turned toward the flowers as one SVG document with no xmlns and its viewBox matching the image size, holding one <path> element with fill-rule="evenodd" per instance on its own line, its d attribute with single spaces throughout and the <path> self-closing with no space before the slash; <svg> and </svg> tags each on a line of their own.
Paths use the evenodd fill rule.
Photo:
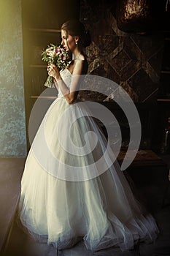
<svg viewBox="0 0 170 256">
<path fill-rule="evenodd" d="M 61 30 L 61 45 L 65 50 L 71 50 L 72 52 L 76 48 L 75 38 L 70 34 L 66 34 L 66 30 Z"/>
</svg>

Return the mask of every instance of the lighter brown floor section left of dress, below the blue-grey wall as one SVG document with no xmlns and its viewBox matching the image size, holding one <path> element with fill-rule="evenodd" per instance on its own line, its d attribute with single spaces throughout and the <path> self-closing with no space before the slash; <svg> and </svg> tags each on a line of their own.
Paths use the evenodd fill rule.
<svg viewBox="0 0 170 256">
<path fill-rule="evenodd" d="M 14 220 L 25 161 L 25 158 L 0 158 L 0 251 Z"/>
</svg>

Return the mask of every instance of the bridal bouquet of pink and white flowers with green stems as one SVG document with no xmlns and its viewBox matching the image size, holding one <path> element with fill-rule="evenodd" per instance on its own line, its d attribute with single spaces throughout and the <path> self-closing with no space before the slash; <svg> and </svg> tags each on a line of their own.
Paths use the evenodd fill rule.
<svg viewBox="0 0 170 256">
<path fill-rule="evenodd" d="M 42 61 L 53 63 L 59 69 L 65 69 L 69 65 L 69 52 L 64 50 L 61 45 L 50 44 L 46 50 L 42 51 Z M 45 86 L 50 88 L 55 87 L 53 77 L 50 75 L 45 82 Z"/>
</svg>

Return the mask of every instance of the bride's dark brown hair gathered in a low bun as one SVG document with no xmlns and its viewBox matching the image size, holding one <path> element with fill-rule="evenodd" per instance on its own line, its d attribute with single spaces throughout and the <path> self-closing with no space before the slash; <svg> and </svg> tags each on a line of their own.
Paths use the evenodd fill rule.
<svg viewBox="0 0 170 256">
<path fill-rule="evenodd" d="M 61 29 L 66 31 L 66 35 L 79 37 L 80 48 L 85 48 L 90 45 L 90 33 L 85 30 L 85 26 L 79 20 L 68 20 L 61 26 Z"/>
</svg>

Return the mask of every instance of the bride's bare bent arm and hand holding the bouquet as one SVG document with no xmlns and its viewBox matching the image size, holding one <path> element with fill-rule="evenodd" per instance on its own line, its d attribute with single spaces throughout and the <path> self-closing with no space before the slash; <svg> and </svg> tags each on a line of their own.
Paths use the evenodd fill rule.
<svg viewBox="0 0 170 256">
<path fill-rule="evenodd" d="M 66 101 L 69 104 L 72 104 L 75 99 L 77 99 L 78 94 L 78 83 L 80 80 L 80 75 L 82 75 L 82 69 L 83 69 L 83 60 L 77 59 L 74 64 L 74 69 L 72 72 L 72 82 L 70 85 L 70 89 L 66 86 L 66 84 L 63 82 L 60 72 L 58 71 L 58 68 L 54 64 L 48 65 L 48 73 L 49 75 L 53 76 L 55 79 L 55 86 L 61 90 L 63 97 L 66 98 Z"/>
</svg>

